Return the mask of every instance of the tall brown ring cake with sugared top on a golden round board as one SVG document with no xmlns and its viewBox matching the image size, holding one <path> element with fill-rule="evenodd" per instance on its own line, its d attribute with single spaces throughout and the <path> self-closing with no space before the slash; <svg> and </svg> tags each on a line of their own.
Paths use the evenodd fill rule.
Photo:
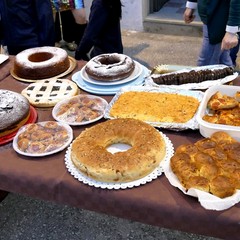
<svg viewBox="0 0 240 240">
<path fill-rule="evenodd" d="M 36 47 L 16 55 L 13 72 L 23 79 L 44 79 L 65 72 L 70 66 L 68 54 L 57 47 Z"/>
</svg>

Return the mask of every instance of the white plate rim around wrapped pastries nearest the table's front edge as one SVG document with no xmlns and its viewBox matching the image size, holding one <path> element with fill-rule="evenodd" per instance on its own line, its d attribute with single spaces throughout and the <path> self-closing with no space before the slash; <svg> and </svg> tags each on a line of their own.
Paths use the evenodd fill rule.
<svg viewBox="0 0 240 240">
<path fill-rule="evenodd" d="M 40 125 L 44 126 L 47 122 L 49 122 L 49 121 L 38 122 L 38 123 L 34 123 L 34 124 L 40 124 Z M 57 148 L 57 149 L 55 149 L 53 151 L 44 152 L 44 153 L 28 153 L 28 152 L 23 152 L 22 150 L 20 150 L 18 148 L 18 144 L 17 144 L 18 136 L 19 136 L 19 134 L 21 134 L 22 132 L 24 132 L 26 130 L 27 126 L 29 125 L 29 124 L 27 124 L 27 125 L 21 127 L 19 129 L 19 131 L 17 132 L 16 136 L 13 138 L 13 149 L 17 153 L 19 153 L 21 155 L 24 155 L 24 156 L 28 156 L 28 157 L 43 157 L 43 156 L 51 155 L 51 154 L 54 154 L 54 153 L 62 151 L 63 149 L 65 149 L 72 142 L 72 140 L 73 140 L 73 131 L 72 131 L 72 128 L 69 125 L 65 124 L 65 123 L 57 123 L 57 124 L 59 126 L 63 126 L 67 130 L 67 132 L 68 132 L 68 140 L 61 147 L 59 147 L 59 148 Z"/>
</svg>

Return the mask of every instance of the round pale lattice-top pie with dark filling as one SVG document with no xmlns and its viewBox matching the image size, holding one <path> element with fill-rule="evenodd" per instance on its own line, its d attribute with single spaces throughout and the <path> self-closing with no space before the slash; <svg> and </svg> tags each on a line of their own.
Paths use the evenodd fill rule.
<svg viewBox="0 0 240 240">
<path fill-rule="evenodd" d="M 39 80 L 21 93 L 33 106 L 52 107 L 62 99 L 77 95 L 78 87 L 68 79 Z"/>
</svg>

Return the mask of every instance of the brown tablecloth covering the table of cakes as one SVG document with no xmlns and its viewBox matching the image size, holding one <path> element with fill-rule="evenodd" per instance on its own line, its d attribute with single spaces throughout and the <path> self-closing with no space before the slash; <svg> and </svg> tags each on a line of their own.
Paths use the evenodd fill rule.
<svg viewBox="0 0 240 240">
<path fill-rule="evenodd" d="M 17 81 L 7 73 L 13 59 L 11 57 L 7 65 L 0 66 L 0 88 L 20 92 L 28 83 Z M 79 62 L 73 73 L 82 64 Z M 66 78 L 71 79 L 73 73 Z M 112 96 L 104 98 L 110 101 Z M 39 108 L 37 112 L 38 121 L 53 120 L 51 108 Z M 74 127 L 74 137 L 84 128 Z M 192 130 L 163 130 L 163 133 L 175 148 L 202 138 L 198 131 Z M 12 149 L 12 143 L 0 146 L 0 189 L 160 227 L 239 239 L 240 204 L 225 211 L 205 210 L 196 198 L 186 196 L 171 186 L 164 174 L 140 187 L 126 190 L 98 189 L 74 179 L 65 167 L 64 155 L 65 151 L 62 151 L 43 158 L 30 158 L 17 154 Z"/>
</svg>

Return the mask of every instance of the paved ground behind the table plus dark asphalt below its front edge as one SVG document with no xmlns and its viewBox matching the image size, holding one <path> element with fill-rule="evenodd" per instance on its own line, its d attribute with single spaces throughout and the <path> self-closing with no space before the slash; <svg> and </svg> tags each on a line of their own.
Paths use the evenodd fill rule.
<svg viewBox="0 0 240 240">
<path fill-rule="evenodd" d="M 125 54 L 145 66 L 196 65 L 201 39 L 123 32 Z M 0 203 L 0 240 L 213 240 L 18 194 Z"/>
</svg>

